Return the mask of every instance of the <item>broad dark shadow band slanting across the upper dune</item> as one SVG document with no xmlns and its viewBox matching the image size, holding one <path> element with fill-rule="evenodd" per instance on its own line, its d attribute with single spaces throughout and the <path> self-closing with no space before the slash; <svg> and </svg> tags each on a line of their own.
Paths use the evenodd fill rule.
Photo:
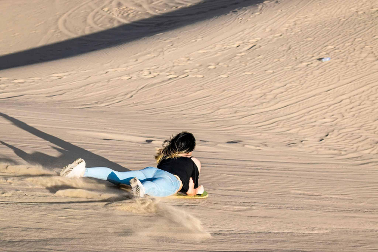
<svg viewBox="0 0 378 252">
<path fill-rule="evenodd" d="M 50 62 L 121 45 L 160 32 L 211 19 L 263 0 L 203 0 L 198 4 L 21 52 L 0 56 L 0 70 Z"/>
</svg>

